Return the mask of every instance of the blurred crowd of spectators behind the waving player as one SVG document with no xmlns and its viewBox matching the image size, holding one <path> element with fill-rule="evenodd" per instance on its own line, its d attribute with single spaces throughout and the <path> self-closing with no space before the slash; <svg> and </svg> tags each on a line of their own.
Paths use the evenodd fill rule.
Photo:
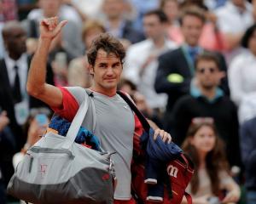
<svg viewBox="0 0 256 204">
<path fill-rule="evenodd" d="M 26 93 L 26 77 L 40 20 L 54 16 L 67 25 L 50 45 L 49 84 L 89 88 L 86 50 L 98 34 L 111 33 L 126 49 L 119 88 L 195 160 L 189 191 L 202 196 L 195 203 L 212 196 L 256 203 L 255 0 L 0 0 L 1 204 L 13 201 L 5 194 L 13 156 L 32 145 L 26 126 L 32 112 L 51 113 Z M 198 120 L 214 134 L 207 152 L 195 152 L 203 125 L 191 133 L 191 124 Z M 199 144 L 210 145 L 203 140 L 209 131 Z M 219 196 L 224 189 L 235 197 Z"/>
</svg>

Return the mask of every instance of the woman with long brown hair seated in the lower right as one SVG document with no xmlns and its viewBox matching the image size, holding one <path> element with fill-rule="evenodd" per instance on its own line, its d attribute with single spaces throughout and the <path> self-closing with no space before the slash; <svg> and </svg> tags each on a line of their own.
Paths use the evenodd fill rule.
<svg viewBox="0 0 256 204">
<path fill-rule="evenodd" d="M 192 120 L 183 150 L 195 163 L 195 174 L 187 189 L 194 204 L 236 203 L 239 200 L 240 189 L 230 177 L 224 142 L 218 137 L 212 118 Z"/>
</svg>

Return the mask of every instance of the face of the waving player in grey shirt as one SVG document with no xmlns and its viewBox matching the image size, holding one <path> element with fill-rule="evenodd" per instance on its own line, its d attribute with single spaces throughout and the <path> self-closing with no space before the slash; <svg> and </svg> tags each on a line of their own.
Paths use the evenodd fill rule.
<svg viewBox="0 0 256 204">
<path fill-rule="evenodd" d="M 106 92 L 117 88 L 122 70 L 119 57 L 113 53 L 107 54 L 103 49 L 98 50 L 94 67 L 90 65 L 95 87 Z"/>
</svg>

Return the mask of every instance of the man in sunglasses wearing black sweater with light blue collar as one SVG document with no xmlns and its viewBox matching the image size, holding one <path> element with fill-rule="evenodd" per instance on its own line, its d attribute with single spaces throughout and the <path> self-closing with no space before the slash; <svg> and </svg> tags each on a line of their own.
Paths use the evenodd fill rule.
<svg viewBox="0 0 256 204">
<path fill-rule="evenodd" d="M 236 105 L 218 88 L 225 76 L 219 70 L 215 54 L 206 52 L 195 59 L 195 78 L 190 93 L 177 100 L 172 112 L 174 142 L 182 144 L 194 117 L 212 117 L 219 136 L 226 144 L 226 154 L 231 166 L 240 166 Z"/>
</svg>

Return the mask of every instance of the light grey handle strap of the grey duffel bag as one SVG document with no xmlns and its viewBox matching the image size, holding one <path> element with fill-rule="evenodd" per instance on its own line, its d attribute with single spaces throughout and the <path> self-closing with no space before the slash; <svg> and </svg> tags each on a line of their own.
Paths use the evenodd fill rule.
<svg viewBox="0 0 256 204">
<path fill-rule="evenodd" d="M 67 131 L 65 142 L 61 146 L 62 149 L 69 149 L 71 145 L 74 143 L 74 140 L 76 139 L 76 136 L 79 133 L 79 128 L 81 127 L 84 121 L 84 116 L 88 110 L 88 107 L 89 101 L 87 101 L 86 97 L 84 97 L 84 101 L 82 105 L 80 105 L 79 111 L 77 111 L 76 116 L 74 116 L 73 122 L 71 123 Z"/>
</svg>

